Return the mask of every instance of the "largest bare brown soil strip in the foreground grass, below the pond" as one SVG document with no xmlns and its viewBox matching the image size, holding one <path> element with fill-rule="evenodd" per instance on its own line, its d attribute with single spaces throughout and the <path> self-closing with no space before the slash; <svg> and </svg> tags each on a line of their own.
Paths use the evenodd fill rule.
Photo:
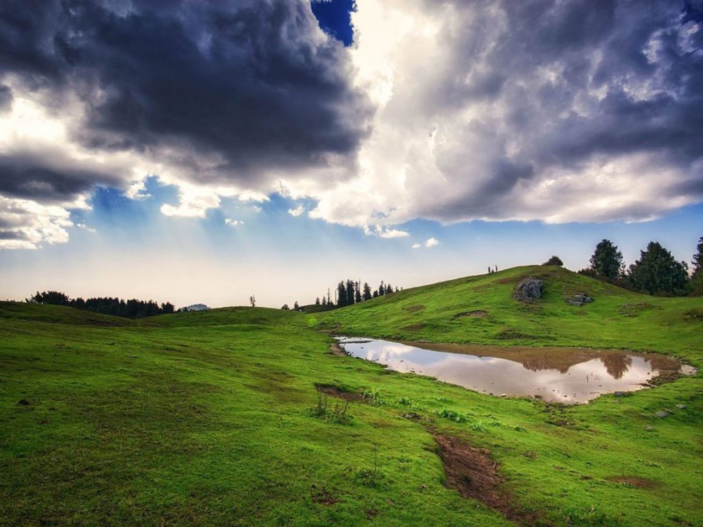
<svg viewBox="0 0 703 527">
<path fill-rule="evenodd" d="M 479 500 L 505 518 L 520 525 L 533 525 L 536 516 L 512 503 L 512 497 L 503 487 L 498 464 L 491 459 L 491 451 L 473 448 L 458 437 L 434 436 L 439 457 L 444 464 L 447 485 L 456 488 L 466 498 Z"/>
</svg>

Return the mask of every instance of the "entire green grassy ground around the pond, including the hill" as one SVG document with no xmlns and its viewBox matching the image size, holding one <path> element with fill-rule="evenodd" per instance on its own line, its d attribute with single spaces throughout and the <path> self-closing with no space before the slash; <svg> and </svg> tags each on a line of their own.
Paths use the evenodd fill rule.
<svg viewBox="0 0 703 527">
<path fill-rule="evenodd" d="M 524 274 L 544 275 L 539 304 L 510 298 Z M 567 306 L 569 287 L 595 302 Z M 703 525 L 702 375 L 564 407 L 391 372 L 316 331 L 633 347 L 700 365 L 701 306 L 557 268 L 314 315 L 133 321 L 0 303 L 0 526 L 514 525 L 446 485 L 442 434 L 490 451 L 518 523 Z M 316 388 L 351 399 L 347 412 L 333 396 L 316 411 Z M 673 415 L 654 417 L 662 408 Z"/>
</svg>

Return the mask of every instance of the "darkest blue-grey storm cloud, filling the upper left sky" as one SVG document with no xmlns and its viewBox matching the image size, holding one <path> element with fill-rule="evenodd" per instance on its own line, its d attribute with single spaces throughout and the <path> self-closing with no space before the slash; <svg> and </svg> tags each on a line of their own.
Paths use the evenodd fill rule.
<svg viewBox="0 0 703 527">
<path fill-rule="evenodd" d="M 82 144 L 187 145 L 216 156 L 216 173 L 235 181 L 354 152 L 370 110 L 349 67 L 304 0 L 0 6 L 2 72 L 50 86 L 57 99 L 78 91 Z"/>
</svg>

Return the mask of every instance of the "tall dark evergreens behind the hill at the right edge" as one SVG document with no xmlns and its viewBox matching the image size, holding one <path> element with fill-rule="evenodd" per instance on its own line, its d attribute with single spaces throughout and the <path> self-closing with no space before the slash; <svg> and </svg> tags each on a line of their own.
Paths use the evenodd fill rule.
<svg viewBox="0 0 703 527">
<path fill-rule="evenodd" d="M 658 296 L 703 295 L 703 237 L 698 240 L 689 274 L 688 263 L 676 261 L 659 242 L 649 242 L 640 259 L 628 268 L 620 249 L 610 240 L 601 240 L 591 256 L 591 266 L 579 273 L 600 278 L 621 287 Z"/>
</svg>

